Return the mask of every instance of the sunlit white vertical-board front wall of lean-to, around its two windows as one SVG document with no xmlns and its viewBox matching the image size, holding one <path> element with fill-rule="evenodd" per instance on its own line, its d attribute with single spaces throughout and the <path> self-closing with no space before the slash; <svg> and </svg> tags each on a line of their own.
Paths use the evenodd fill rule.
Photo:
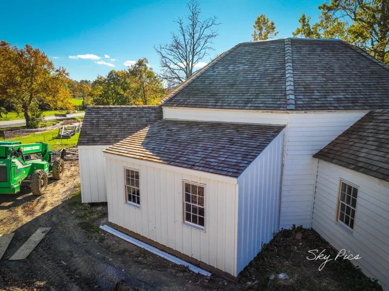
<svg viewBox="0 0 389 291">
<path fill-rule="evenodd" d="M 106 158 L 108 220 L 236 275 L 237 185 Z M 139 169 L 141 208 L 125 203 L 124 167 Z M 114 173 L 114 174 L 111 174 Z M 183 225 L 182 181 L 205 185 L 205 231 Z"/>
</svg>

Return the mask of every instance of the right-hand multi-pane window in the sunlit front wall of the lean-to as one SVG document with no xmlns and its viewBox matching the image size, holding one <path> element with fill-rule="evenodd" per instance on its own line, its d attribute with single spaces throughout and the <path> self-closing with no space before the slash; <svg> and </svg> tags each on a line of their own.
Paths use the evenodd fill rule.
<svg viewBox="0 0 389 291">
<path fill-rule="evenodd" d="M 200 228 L 205 225 L 204 186 L 184 182 L 184 221 Z"/>
</svg>

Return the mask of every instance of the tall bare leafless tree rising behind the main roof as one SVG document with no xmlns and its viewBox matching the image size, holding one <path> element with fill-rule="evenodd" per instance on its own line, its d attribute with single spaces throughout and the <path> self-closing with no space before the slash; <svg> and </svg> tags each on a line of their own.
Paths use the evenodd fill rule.
<svg viewBox="0 0 389 291">
<path fill-rule="evenodd" d="M 187 7 L 187 24 L 182 17 L 178 18 L 174 21 L 178 33 L 172 33 L 170 43 L 154 46 L 160 58 L 160 78 L 168 87 L 184 82 L 204 65 L 200 61 L 214 51 L 212 41 L 218 35 L 213 29 L 220 24 L 217 17 L 200 20 L 201 9 L 196 0 L 190 0 Z"/>
</svg>

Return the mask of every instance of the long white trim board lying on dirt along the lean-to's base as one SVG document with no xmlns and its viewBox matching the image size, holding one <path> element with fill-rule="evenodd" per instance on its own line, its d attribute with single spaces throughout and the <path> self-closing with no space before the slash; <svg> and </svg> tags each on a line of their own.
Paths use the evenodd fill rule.
<svg viewBox="0 0 389 291">
<path fill-rule="evenodd" d="M 100 225 L 100 228 L 105 230 L 106 232 L 109 232 L 110 234 L 114 235 L 114 236 L 117 236 L 118 238 L 121 238 L 122 240 L 126 240 L 132 244 L 135 244 L 139 247 L 141 247 L 142 249 L 145 249 L 146 251 L 149 251 L 159 257 L 163 257 L 173 263 L 176 263 L 177 265 L 184 265 L 184 266 L 188 266 L 189 267 L 189 270 L 195 272 L 196 274 L 202 274 L 202 275 L 205 275 L 205 276 L 211 276 L 212 274 L 203 270 L 203 269 L 200 269 L 200 268 L 197 268 L 196 266 L 178 258 L 178 257 L 174 257 L 168 253 L 165 253 L 165 252 L 162 252 L 161 250 L 143 242 L 143 241 L 140 241 L 140 240 L 137 240 L 137 239 L 134 239 L 112 227 L 109 227 L 108 225 Z"/>
</svg>

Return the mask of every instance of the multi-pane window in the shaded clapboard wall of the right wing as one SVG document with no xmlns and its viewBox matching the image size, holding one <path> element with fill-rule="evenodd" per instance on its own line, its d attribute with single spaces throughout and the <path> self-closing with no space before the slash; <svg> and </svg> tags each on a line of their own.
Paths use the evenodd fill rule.
<svg viewBox="0 0 389 291">
<path fill-rule="evenodd" d="M 354 228 L 358 188 L 340 181 L 337 221 Z"/>
</svg>

